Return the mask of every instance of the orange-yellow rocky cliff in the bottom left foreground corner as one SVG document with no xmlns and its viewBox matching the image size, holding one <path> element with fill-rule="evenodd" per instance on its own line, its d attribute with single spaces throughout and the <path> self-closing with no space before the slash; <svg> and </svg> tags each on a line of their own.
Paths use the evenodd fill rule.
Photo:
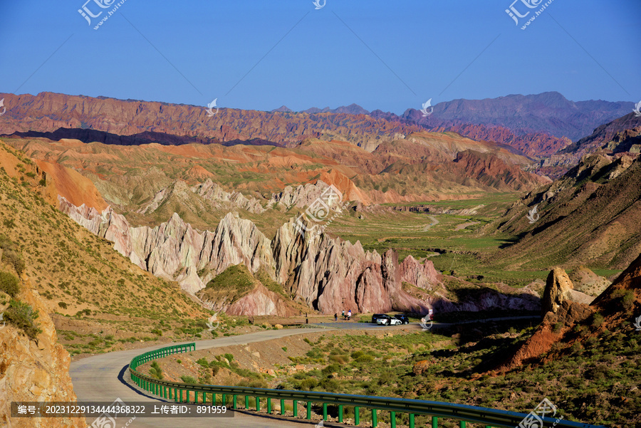
<svg viewBox="0 0 641 428">
<path fill-rule="evenodd" d="M 21 301 L 38 310 L 42 333 L 35 340 L 7 323 L 0 328 L 0 424 L 9 428 L 85 428 L 84 418 L 11 418 L 11 402 L 75 402 L 67 351 L 58 343 L 46 306 L 22 277 Z"/>
</svg>

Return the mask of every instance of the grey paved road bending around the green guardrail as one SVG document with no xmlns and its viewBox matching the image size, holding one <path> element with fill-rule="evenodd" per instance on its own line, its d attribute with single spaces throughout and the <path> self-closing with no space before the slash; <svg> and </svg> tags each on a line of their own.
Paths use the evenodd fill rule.
<svg viewBox="0 0 641 428">
<path fill-rule="evenodd" d="M 229 336 L 211 340 L 199 340 L 196 342 L 196 349 L 202 350 L 207 348 L 218 348 L 221 346 L 244 345 L 247 343 L 262 342 L 264 340 L 285 338 L 287 336 L 298 335 L 303 333 L 316 333 L 319 331 L 328 331 L 327 328 L 301 328 L 296 330 L 266 330 L 258 333 L 246 335 Z M 178 345 L 178 343 L 168 343 L 167 345 Z M 82 402 L 113 402 L 120 398 L 125 403 L 128 402 L 160 402 L 155 395 L 147 394 L 146 391 L 139 390 L 129 374 L 127 366 L 135 355 L 146 353 L 147 351 L 162 348 L 163 345 L 156 345 L 150 348 L 139 348 L 135 350 L 118 351 L 115 353 L 106 353 L 95 355 L 93 357 L 83 358 L 71 363 L 71 380 L 73 390 L 78 395 L 78 403 Z M 169 401 L 169 400 L 168 400 Z M 128 419 L 117 419 L 118 424 L 115 428 L 121 428 Z M 301 422 L 303 419 L 301 419 Z M 88 425 L 93 422 L 93 418 L 87 418 Z M 306 421 L 306 424 L 309 424 Z M 225 428 L 251 427 L 251 428 L 272 428 L 272 427 L 301 427 L 301 423 L 286 422 L 282 419 L 272 419 L 266 416 L 253 416 L 236 412 L 234 417 L 226 418 L 207 418 L 207 417 L 139 417 L 135 419 L 128 428 L 212 428 L 224 426 Z"/>
</svg>

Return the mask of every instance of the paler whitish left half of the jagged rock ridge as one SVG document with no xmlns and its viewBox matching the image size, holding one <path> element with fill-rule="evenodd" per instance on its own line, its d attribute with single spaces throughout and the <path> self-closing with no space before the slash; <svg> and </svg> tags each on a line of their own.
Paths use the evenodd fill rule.
<svg viewBox="0 0 641 428">
<path fill-rule="evenodd" d="M 132 227 L 108 207 L 102 213 L 75 207 L 63 197 L 60 209 L 93 234 L 113 241 L 114 249 L 140 268 L 170 281 L 190 293 L 227 267 L 243 263 L 252 272 L 273 265 L 270 241 L 249 220 L 227 214 L 214 232 L 196 231 L 178 214 L 155 228 Z M 202 278 L 198 271 L 206 272 Z M 204 281 L 204 282 L 203 282 Z"/>
</svg>

